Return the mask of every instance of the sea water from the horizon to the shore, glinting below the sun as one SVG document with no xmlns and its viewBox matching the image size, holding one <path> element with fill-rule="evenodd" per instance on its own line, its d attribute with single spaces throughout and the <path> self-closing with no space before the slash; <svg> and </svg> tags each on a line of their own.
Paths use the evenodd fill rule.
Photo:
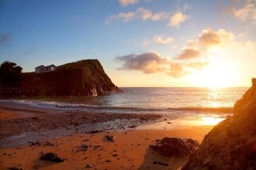
<svg viewBox="0 0 256 170">
<path fill-rule="evenodd" d="M 95 97 L 55 97 L 12 102 L 37 107 L 115 113 L 231 114 L 248 88 L 122 88 L 123 93 Z"/>
</svg>

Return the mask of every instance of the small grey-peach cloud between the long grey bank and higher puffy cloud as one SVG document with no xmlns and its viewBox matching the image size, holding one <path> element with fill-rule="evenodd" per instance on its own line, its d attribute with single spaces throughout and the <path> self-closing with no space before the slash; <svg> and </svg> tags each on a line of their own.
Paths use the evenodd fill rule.
<svg viewBox="0 0 256 170">
<path fill-rule="evenodd" d="M 175 59 L 178 60 L 190 60 L 190 59 L 196 59 L 200 57 L 200 52 L 193 48 L 184 48 L 180 54 L 175 57 Z"/>
</svg>

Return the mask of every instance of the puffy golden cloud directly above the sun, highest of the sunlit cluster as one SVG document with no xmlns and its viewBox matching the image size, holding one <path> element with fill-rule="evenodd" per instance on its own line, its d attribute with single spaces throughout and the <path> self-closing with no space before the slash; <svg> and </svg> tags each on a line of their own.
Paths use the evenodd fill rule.
<svg viewBox="0 0 256 170">
<path fill-rule="evenodd" d="M 209 48 L 215 45 L 226 45 L 228 42 L 233 41 L 234 35 L 232 32 L 226 32 L 224 29 L 218 31 L 207 28 L 202 30 L 197 39 L 188 41 L 189 46 L 203 46 Z"/>
</svg>

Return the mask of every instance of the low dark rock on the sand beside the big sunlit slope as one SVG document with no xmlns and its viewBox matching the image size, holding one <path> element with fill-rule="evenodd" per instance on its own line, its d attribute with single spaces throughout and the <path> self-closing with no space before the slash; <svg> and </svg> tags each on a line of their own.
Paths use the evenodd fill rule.
<svg viewBox="0 0 256 170">
<path fill-rule="evenodd" d="M 150 147 L 166 157 L 184 157 L 193 153 L 199 147 L 199 143 L 193 139 L 163 138 L 157 144 Z"/>
</svg>

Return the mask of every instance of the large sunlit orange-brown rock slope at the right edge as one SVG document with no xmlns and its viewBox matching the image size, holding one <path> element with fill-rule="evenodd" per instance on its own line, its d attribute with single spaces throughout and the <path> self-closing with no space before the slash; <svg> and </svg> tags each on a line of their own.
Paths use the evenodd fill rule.
<svg viewBox="0 0 256 170">
<path fill-rule="evenodd" d="M 215 125 L 182 169 L 256 169 L 256 79 L 234 105 L 234 115 Z"/>
</svg>

